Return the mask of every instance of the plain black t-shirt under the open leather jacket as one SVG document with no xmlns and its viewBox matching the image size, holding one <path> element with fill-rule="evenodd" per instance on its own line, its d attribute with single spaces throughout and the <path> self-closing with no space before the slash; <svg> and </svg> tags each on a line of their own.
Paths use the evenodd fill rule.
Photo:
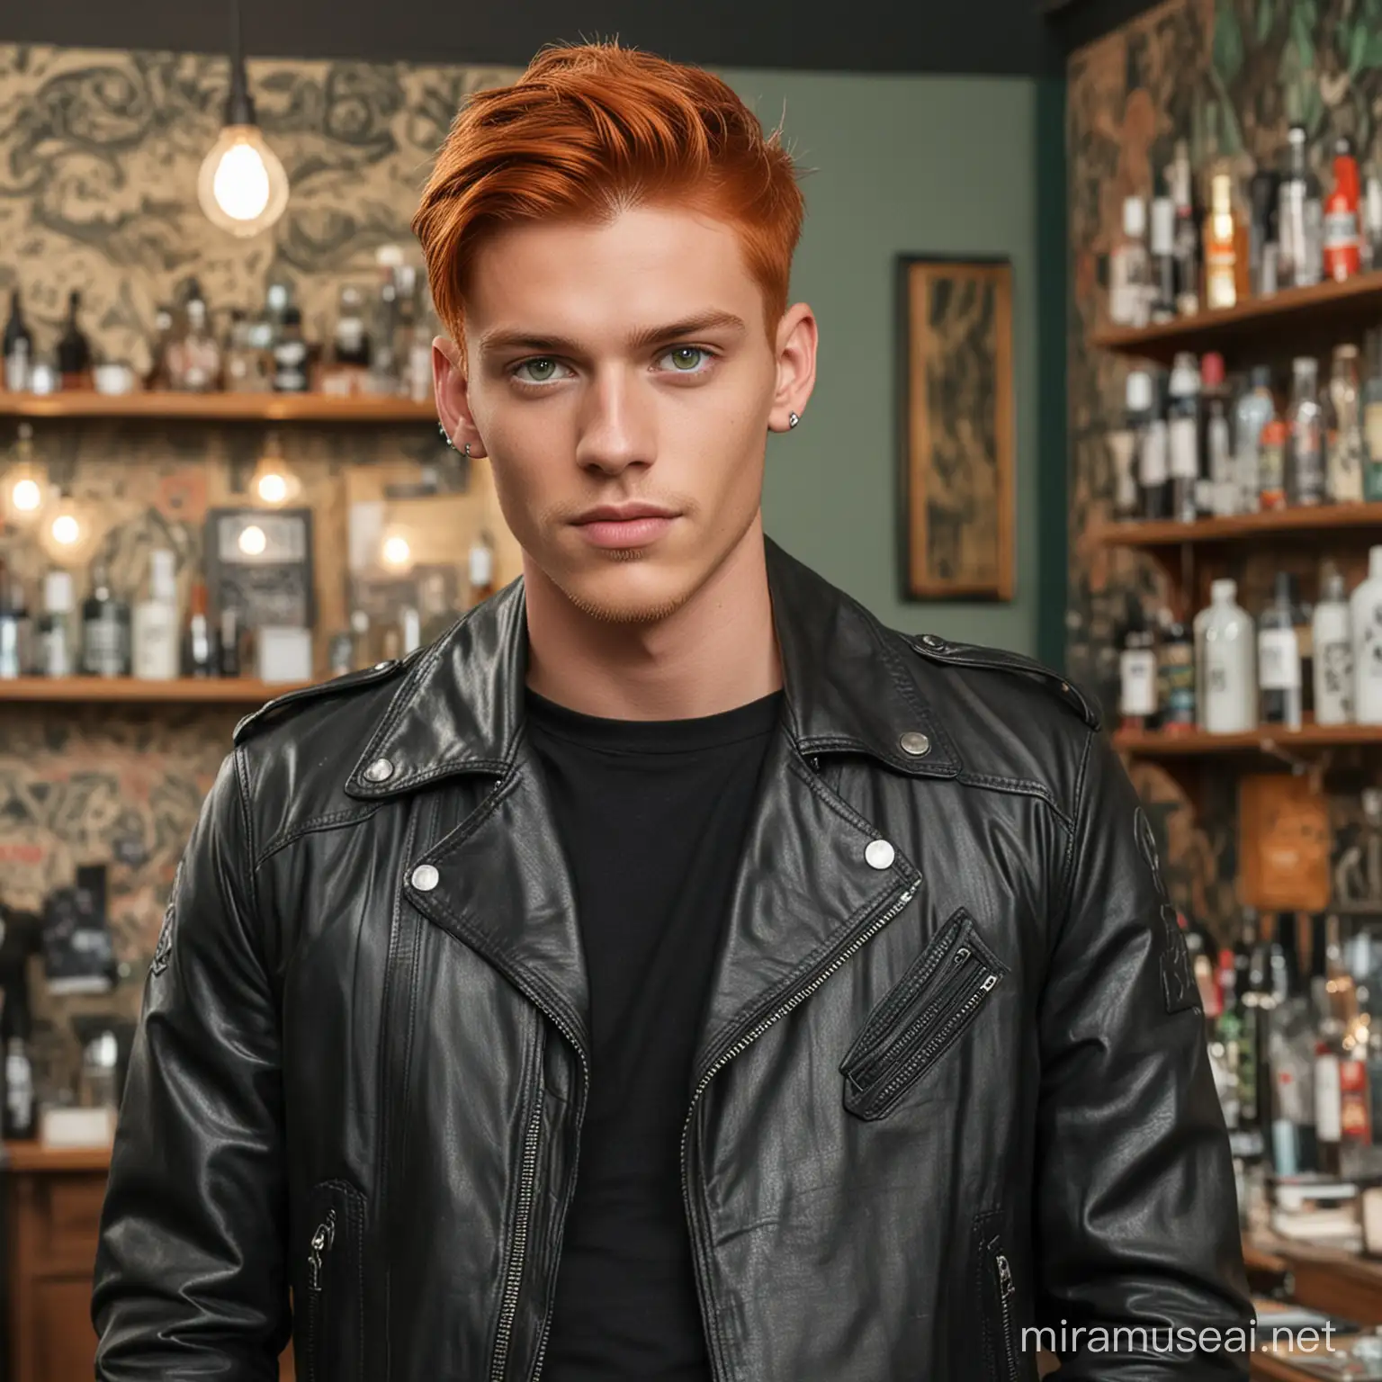
<svg viewBox="0 0 1382 1382">
<path fill-rule="evenodd" d="M 709 1382 L 681 1130 L 781 699 L 645 721 L 596 719 L 528 692 L 575 883 L 591 1031 L 543 1382 Z"/>
</svg>

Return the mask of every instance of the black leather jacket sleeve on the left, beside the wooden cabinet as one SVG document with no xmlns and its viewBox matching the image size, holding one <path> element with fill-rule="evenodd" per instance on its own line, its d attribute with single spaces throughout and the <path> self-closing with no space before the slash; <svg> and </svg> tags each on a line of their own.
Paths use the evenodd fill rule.
<svg viewBox="0 0 1382 1382">
<path fill-rule="evenodd" d="M 144 992 L 97 1249 L 97 1382 L 276 1379 L 285 1218 L 279 1024 L 232 753 Z"/>
</svg>

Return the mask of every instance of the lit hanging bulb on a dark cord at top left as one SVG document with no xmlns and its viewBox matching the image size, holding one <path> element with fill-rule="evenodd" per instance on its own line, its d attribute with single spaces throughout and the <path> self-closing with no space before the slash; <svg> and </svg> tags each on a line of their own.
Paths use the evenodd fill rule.
<svg viewBox="0 0 1382 1382">
<path fill-rule="evenodd" d="M 287 206 L 287 174 L 254 120 L 239 0 L 231 0 L 231 94 L 225 100 L 225 127 L 202 160 L 196 196 L 213 225 L 239 236 L 267 231 Z"/>
</svg>

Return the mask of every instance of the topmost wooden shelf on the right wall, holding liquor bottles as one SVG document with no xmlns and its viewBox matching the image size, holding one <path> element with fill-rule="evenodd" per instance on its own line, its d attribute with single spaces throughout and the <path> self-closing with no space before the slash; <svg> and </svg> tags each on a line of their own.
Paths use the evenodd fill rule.
<svg viewBox="0 0 1382 1382">
<path fill-rule="evenodd" d="M 1216 312 L 1177 316 L 1155 326 L 1118 326 L 1095 333 L 1095 346 L 1144 359 L 1169 361 L 1177 351 L 1216 350 L 1244 361 L 1314 354 L 1325 340 L 1350 339 L 1382 325 L 1382 272 L 1343 283 L 1289 287 Z"/>
</svg>

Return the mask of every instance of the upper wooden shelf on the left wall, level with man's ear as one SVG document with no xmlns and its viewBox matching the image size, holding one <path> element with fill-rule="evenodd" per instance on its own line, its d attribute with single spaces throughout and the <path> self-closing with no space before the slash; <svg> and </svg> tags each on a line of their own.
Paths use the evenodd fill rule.
<svg viewBox="0 0 1382 1382">
<path fill-rule="evenodd" d="M 437 405 L 334 394 L 8 394 L 0 417 L 145 417 L 181 422 L 437 423 Z"/>
</svg>

